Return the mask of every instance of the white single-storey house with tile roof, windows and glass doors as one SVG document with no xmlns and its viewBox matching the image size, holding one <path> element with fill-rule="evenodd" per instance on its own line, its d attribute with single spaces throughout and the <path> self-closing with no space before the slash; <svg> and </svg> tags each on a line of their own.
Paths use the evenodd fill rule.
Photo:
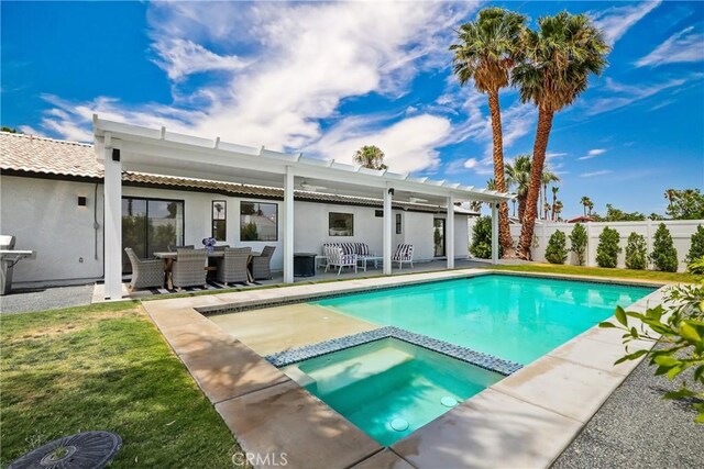
<svg viewBox="0 0 704 469">
<path fill-rule="evenodd" d="M 105 273 L 102 163 L 92 145 L 0 133 L 0 231 L 36 259 L 19 263 L 16 283 L 78 283 Z M 383 249 L 383 201 L 320 191 L 294 191 L 294 249 L 323 243 L 366 243 Z M 276 246 L 272 269 L 284 265 L 284 189 L 136 171 L 122 172 L 122 246 L 141 257 L 169 245 L 213 236 L 219 244 Z M 444 258 L 447 209 L 394 200 L 393 245 L 410 243 L 417 261 Z M 454 257 L 468 256 L 468 217 L 454 208 Z M 440 233 L 440 236 L 436 235 Z M 437 244 L 436 239 L 442 239 Z M 129 271 L 123 259 L 123 271 Z"/>
</svg>

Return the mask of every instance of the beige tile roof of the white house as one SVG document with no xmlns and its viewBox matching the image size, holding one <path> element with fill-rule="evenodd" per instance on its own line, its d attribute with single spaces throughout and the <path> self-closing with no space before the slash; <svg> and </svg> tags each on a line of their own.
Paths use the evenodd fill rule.
<svg viewBox="0 0 704 469">
<path fill-rule="evenodd" d="M 103 176 L 103 167 L 96 159 L 94 146 L 90 144 L 65 142 L 23 134 L 11 134 L 8 132 L 0 132 L 0 170 L 94 179 L 101 179 Z M 189 190 L 218 192 L 227 196 L 261 197 L 270 199 L 284 198 L 284 190 L 280 188 L 150 175 L 144 172 L 125 171 L 122 174 L 122 180 L 135 186 L 184 188 Z M 312 202 L 382 206 L 381 199 L 301 190 L 295 191 L 295 198 L 297 200 Z M 440 208 L 438 205 L 396 200 L 394 201 L 394 208 L 432 213 L 444 212 L 444 208 Z M 457 211 L 458 213 L 473 213 L 461 208 L 458 208 Z"/>
</svg>

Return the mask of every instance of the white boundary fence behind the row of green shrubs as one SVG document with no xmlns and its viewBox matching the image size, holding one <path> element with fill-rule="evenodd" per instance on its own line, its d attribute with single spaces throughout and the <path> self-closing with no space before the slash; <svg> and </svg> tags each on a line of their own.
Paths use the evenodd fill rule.
<svg viewBox="0 0 704 469">
<path fill-rule="evenodd" d="M 472 228 L 477 219 L 470 219 L 470 244 L 472 238 Z M 645 222 L 613 222 L 613 223 L 584 223 L 586 228 L 587 244 L 586 244 L 586 266 L 596 267 L 596 247 L 598 246 L 598 235 L 602 234 L 604 226 L 616 230 L 620 235 L 619 246 L 623 248 L 618 255 L 618 267 L 625 268 L 625 249 L 626 241 L 630 233 L 636 232 L 641 234 L 646 238 L 648 244 L 648 254 L 652 252 L 652 241 L 656 234 L 656 230 L 660 223 L 664 223 L 670 234 L 672 235 L 672 242 L 674 248 L 678 250 L 678 260 L 680 261 L 679 270 L 683 271 L 686 268 L 684 258 L 690 252 L 690 244 L 692 234 L 696 231 L 698 225 L 704 226 L 704 220 L 669 220 L 663 222 L 658 221 L 645 221 Z M 510 225 L 510 235 L 514 238 L 514 245 L 518 244 L 520 237 L 520 225 Z M 568 236 L 568 248 L 570 247 L 570 233 L 574 223 L 553 223 L 539 221 L 536 223 L 536 230 L 534 232 L 532 244 L 532 258 L 534 260 L 546 263 L 546 247 L 548 246 L 548 239 L 558 230 L 563 232 Z M 574 253 L 570 253 L 565 264 L 576 265 L 576 256 Z M 649 266 L 652 268 L 652 266 Z"/>
</svg>

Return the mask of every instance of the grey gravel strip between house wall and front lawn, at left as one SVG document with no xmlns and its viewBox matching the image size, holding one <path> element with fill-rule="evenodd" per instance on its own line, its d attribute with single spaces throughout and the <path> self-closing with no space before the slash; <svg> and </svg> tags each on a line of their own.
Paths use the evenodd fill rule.
<svg viewBox="0 0 704 469">
<path fill-rule="evenodd" d="M 94 284 L 81 284 L 36 290 L 15 290 L 11 294 L 0 297 L 0 312 L 2 314 L 29 313 L 90 304 L 94 287 Z"/>
</svg>

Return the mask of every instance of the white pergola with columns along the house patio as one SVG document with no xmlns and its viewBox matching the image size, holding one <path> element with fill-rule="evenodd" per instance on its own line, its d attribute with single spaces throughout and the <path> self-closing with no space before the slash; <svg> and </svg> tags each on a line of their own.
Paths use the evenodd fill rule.
<svg viewBox="0 0 704 469">
<path fill-rule="evenodd" d="M 306 157 L 99 119 L 94 115 L 96 157 L 105 165 L 106 298 L 122 298 L 122 171 L 239 182 L 284 189 L 284 282 L 294 282 L 294 187 L 296 178 L 346 196 L 384 202 L 384 273 L 392 273 L 392 200 L 422 198 L 447 206 L 448 268 L 454 267 L 454 204 L 487 202 L 492 206 L 492 263 L 498 261 L 497 208 L 512 196 L 448 181 L 416 178 L 334 160 Z"/>
</svg>

